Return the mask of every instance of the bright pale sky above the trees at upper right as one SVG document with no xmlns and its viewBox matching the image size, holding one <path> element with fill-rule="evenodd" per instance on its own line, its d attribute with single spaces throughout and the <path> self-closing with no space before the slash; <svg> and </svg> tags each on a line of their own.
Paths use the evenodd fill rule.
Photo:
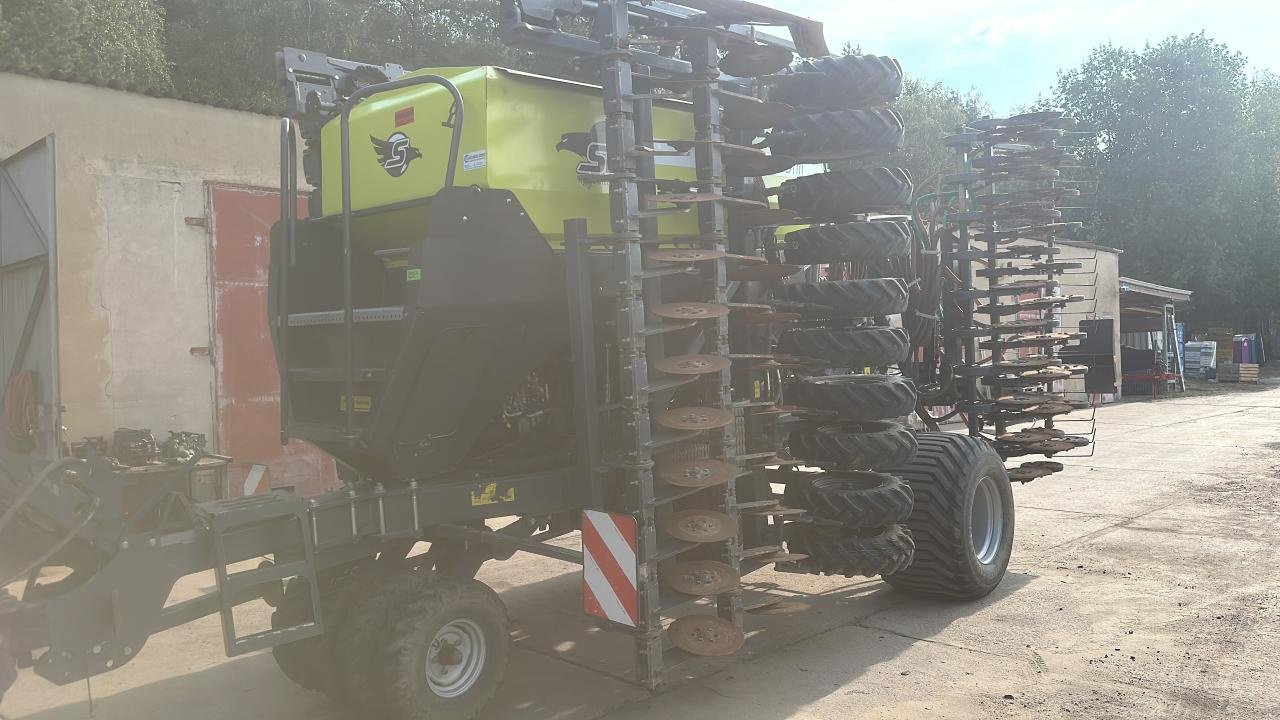
<svg viewBox="0 0 1280 720">
<path fill-rule="evenodd" d="M 822 20 L 827 45 L 892 55 L 908 74 L 977 87 L 1002 114 L 1046 94 L 1103 42 L 1142 47 L 1206 31 L 1280 72 L 1280 0 L 758 0 Z"/>
</svg>

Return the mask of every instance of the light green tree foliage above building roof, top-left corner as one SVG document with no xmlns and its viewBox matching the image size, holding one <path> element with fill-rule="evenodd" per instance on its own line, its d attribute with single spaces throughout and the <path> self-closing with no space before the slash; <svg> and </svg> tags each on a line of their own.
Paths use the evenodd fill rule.
<svg viewBox="0 0 1280 720">
<path fill-rule="evenodd" d="M 152 0 L 6 0 L 0 67 L 145 88 L 170 82 Z"/>
</svg>

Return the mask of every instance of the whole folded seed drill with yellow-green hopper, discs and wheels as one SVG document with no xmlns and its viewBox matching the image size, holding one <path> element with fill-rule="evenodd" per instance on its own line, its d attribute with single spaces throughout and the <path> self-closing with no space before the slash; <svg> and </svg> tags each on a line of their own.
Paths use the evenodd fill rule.
<svg viewBox="0 0 1280 720">
<path fill-rule="evenodd" d="M 956 211 L 932 223 L 886 214 L 911 204 L 906 172 L 859 164 L 902 142 L 899 64 L 829 56 L 819 23 L 736 0 L 502 17 L 599 85 L 279 55 L 282 441 L 332 454 L 343 486 L 195 503 L 189 462 L 143 487 L 5 448 L 19 665 L 74 682 L 220 614 L 228 655 L 271 648 L 366 716 L 471 717 L 508 655 L 474 577 L 516 551 L 584 566 L 584 610 L 635 637 L 648 687 L 741 647 L 740 580 L 763 568 L 957 598 L 1000 583 L 1002 456 L 1080 445 L 1051 391 L 1082 370 L 1048 351 L 1071 340 L 1050 332 L 1068 120 L 947 138 L 961 167 L 936 195 Z M 974 287 L 983 268 L 1011 269 Z M 1048 279 L 1014 292 L 1012 268 Z M 920 405 L 970 434 L 908 430 Z M 548 542 L 579 530 L 581 551 Z M 202 570 L 216 592 L 166 605 Z M 260 598 L 271 628 L 237 628 Z"/>
</svg>

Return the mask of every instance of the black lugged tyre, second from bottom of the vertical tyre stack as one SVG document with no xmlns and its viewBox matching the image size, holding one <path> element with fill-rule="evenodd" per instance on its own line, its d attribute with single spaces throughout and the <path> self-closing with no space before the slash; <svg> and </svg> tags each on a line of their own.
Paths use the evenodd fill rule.
<svg viewBox="0 0 1280 720">
<path fill-rule="evenodd" d="M 911 488 L 884 473 L 788 473 L 782 503 L 846 528 L 881 528 L 911 515 Z"/>
</svg>

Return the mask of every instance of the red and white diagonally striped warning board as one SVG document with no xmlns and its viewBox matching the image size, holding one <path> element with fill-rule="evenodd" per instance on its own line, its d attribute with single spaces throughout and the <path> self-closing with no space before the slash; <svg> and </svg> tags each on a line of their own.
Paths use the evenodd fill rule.
<svg viewBox="0 0 1280 720">
<path fill-rule="evenodd" d="M 582 511 L 582 609 L 588 615 L 635 628 L 636 519 L 599 510 Z"/>
</svg>

